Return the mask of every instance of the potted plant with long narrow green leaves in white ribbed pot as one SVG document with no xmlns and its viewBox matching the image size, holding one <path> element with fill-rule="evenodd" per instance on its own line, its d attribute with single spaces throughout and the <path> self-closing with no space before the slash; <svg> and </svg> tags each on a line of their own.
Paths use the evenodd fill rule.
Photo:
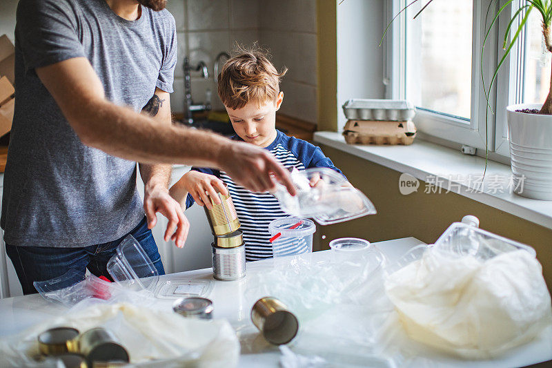
<svg viewBox="0 0 552 368">
<path fill-rule="evenodd" d="M 395 18 L 406 8 L 420 0 L 413 0 L 404 7 Z M 422 7 L 422 10 L 417 12 L 417 17 L 427 6 L 434 0 L 428 0 Z M 440 0 L 446 1 L 446 0 Z M 495 24 L 497 23 L 500 14 L 504 12 L 508 6 L 513 3 L 513 0 L 506 1 L 493 14 L 493 21 L 486 30 L 482 51 L 484 50 L 487 37 Z M 496 6 L 495 0 L 489 1 L 489 10 L 493 4 Z M 529 14 L 538 11 L 542 18 L 542 34 L 544 36 L 544 44 L 546 50 L 552 52 L 552 0 L 525 0 L 519 9 L 513 12 L 509 24 L 504 34 L 504 55 L 502 55 L 497 68 L 493 73 L 491 84 L 486 86 L 484 92 L 489 105 L 489 93 L 493 84 L 496 81 L 498 71 L 513 48 L 515 42 L 526 26 Z M 489 13 L 488 13 L 489 14 Z M 414 18 L 415 18 L 414 17 Z M 490 19 L 491 19 L 490 18 Z M 393 20 L 388 24 L 385 33 Z M 517 26 L 514 26 L 517 23 Z M 382 38 L 383 39 L 383 38 Z M 484 79 L 484 76 L 482 75 Z M 484 80 L 483 80 L 484 82 Z M 484 83 L 485 86 L 485 83 Z M 516 104 L 506 107 L 506 116 L 508 119 L 508 131 L 510 140 L 510 157 L 511 168 L 513 173 L 515 193 L 524 197 L 534 198 L 537 200 L 552 200 L 552 79 L 549 88 L 548 97 L 544 104 Z"/>
</svg>

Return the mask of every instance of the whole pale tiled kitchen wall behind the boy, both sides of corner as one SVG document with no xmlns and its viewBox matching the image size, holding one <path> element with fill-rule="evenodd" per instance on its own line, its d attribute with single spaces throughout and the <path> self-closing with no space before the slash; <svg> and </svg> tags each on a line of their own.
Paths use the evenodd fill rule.
<svg viewBox="0 0 552 368">
<path fill-rule="evenodd" d="M 286 115 L 316 122 L 316 8 L 315 0 L 169 0 L 168 10 L 177 24 L 179 43 L 172 110 L 184 110 L 184 56 L 190 64 L 200 60 L 209 68 L 209 78 L 192 74 L 192 95 L 203 102 L 212 91 L 213 108 L 223 109 L 217 96 L 213 64 L 221 51 L 230 52 L 235 42 L 250 46 L 254 41 L 270 49 L 275 66 L 289 68 L 282 82 Z"/>
</svg>

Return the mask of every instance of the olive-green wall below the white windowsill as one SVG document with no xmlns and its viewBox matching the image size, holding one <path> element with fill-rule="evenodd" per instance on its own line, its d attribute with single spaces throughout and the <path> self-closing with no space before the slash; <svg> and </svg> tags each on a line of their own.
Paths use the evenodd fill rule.
<svg viewBox="0 0 552 368">
<path fill-rule="evenodd" d="M 316 249 L 328 249 L 335 238 L 364 238 L 371 242 L 413 236 L 431 244 L 464 215 L 475 215 L 482 229 L 529 244 L 537 251 L 544 278 L 552 287 L 552 230 L 493 209 L 456 193 L 410 195 L 399 192 L 400 173 L 328 146 L 322 150 L 335 166 L 365 193 L 377 209 L 376 215 L 330 226 L 318 226 Z M 420 187 L 424 187 L 422 184 Z M 322 235 L 326 239 L 322 240 Z"/>
</svg>

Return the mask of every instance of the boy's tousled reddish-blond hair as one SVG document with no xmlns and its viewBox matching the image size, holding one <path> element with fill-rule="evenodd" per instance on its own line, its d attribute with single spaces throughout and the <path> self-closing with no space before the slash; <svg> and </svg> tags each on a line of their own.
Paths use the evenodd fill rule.
<svg viewBox="0 0 552 368">
<path fill-rule="evenodd" d="M 239 48 L 239 55 L 228 59 L 218 76 L 218 93 L 224 104 L 233 110 L 248 102 L 257 105 L 276 101 L 280 92 L 279 82 L 288 71 L 278 72 L 268 59 L 268 52 L 255 46 Z"/>
</svg>

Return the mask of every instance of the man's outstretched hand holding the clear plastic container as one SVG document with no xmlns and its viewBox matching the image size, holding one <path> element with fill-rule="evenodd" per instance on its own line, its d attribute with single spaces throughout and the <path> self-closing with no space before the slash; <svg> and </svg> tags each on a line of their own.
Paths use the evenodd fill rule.
<svg viewBox="0 0 552 368">
<path fill-rule="evenodd" d="M 275 177 L 290 195 L 297 193 L 289 171 L 264 148 L 245 142 L 230 142 L 226 148 L 221 150 L 219 164 L 238 184 L 255 192 L 273 191 Z"/>
</svg>

